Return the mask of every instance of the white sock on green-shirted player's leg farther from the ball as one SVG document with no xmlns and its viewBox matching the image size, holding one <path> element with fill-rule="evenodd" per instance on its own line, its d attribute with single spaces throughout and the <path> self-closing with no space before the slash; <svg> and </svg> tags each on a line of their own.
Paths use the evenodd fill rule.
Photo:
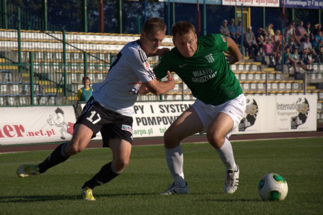
<svg viewBox="0 0 323 215">
<path fill-rule="evenodd" d="M 165 148 L 165 153 L 166 163 L 174 180 L 174 185 L 185 187 L 186 182 L 184 180 L 183 172 L 184 158 L 181 145 L 178 145 L 177 147 L 171 149 Z"/>
</svg>

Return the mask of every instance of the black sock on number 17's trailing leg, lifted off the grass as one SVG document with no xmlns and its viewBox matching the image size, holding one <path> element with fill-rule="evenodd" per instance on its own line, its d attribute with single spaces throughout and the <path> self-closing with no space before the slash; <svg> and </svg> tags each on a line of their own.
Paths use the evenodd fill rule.
<svg viewBox="0 0 323 215">
<path fill-rule="evenodd" d="M 66 155 L 64 152 L 64 147 L 67 143 L 62 143 L 59 145 L 49 156 L 38 165 L 39 173 L 44 173 L 49 168 L 56 166 L 65 162 L 70 156 Z"/>
</svg>

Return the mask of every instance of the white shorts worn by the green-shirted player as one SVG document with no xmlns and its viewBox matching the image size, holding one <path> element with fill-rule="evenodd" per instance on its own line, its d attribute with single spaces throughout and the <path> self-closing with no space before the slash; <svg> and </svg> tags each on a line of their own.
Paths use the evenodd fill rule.
<svg viewBox="0 0 323 215">
<path fill-rule="evenodd" d="M 203 130 L 200 132 L 200 134 L 206 132 L 209 124 L 212 122 L 214 117 L 218 115 L 218 113 L 222 112 L 229 115 L 233 120 L 233 128 L 226 136 L 229 138 L 232 131 L 239 125 L 242 118 L 244 118 L 246 110 L 246 98 L 244 94 L 240 94 L 236 98 L 219 105 L 205 104 L 203 101 L 196 99 L 196 101 L 192 104 L 192 107 L 203 123 Z"/>
</svg>

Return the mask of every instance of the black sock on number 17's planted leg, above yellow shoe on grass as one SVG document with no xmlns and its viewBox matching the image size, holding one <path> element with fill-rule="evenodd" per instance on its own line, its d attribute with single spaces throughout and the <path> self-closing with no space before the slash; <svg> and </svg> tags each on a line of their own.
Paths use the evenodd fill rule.
<svg viewBox="0 0 323 215">
<path fill-rule="evenodd" d="M 111 181 L 119 175 L 120 173 L 113 169 L 112 162 L 110 162 L 109 164 L 104 165 L 93 178 L 85 182 L 82 188 L 89 187 L 93 189 L 96 186 L 100 186 Z"/>
</svg>

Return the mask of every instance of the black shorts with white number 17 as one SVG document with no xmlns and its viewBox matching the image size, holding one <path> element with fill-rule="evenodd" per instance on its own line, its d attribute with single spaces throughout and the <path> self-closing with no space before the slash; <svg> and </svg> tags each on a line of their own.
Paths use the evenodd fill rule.
<svg viewBox="0 0 323 215">
<path fill-rule="evenodd" d="M 110 139 L 122 139 L 133 142 L 132 117 L 123 116 L 104 109 L 91 97 L 85 104 L 81 116 L 76 124 L 83 124 L 93 131 L 93 137 L 99 131 L 102 135 L 103 147 L 109 147 Z"/>
</svg>

